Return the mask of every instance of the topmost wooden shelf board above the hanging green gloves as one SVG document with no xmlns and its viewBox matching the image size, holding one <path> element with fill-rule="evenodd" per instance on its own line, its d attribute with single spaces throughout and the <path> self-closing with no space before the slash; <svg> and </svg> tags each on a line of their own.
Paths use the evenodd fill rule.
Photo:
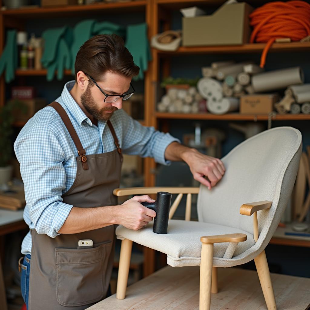
<svg viewBox="0 0 310 310">
<path fill-rule="evenodd" d="M 0 14 L 13 18 L 54 18 L 57 16 L 85 15 L 86 12 L 100 13 L 102 11 L 144 11 L 147 0 L 136 0 L 113 3 L 94 3 L 86 5 L 68 5 L 57 7 L 34 7 L 24 9 L 8 9 Z"/>
</svg>

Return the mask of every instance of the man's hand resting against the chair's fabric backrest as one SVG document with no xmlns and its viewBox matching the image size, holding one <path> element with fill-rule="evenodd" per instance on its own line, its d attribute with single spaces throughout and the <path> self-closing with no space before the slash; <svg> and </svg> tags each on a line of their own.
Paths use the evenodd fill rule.
<svg viewBox="0 0 310 310">
<path fill-rule="evenodd" d="M 199 153 L 196 149 L 190 149 L 184 154 L 184 161 L 187 162 L 194 179 L 209 189 L 215 186 L 225 173 L 224 164 L 219 158 Z"/>
</svg>

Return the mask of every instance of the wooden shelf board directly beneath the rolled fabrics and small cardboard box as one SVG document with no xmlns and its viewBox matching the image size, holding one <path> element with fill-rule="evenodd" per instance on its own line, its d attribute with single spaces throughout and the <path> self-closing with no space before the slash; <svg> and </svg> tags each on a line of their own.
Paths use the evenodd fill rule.
<svg viewBox="0 0 310 310">
<path fill-rule="evenodd" d="M 228 113 L 223 115 L 215 115 L 211 113 L 161 113 L 156 112 L 157 119 L 195 119 L 195 120 L 218 120 L 218 121 L 267 121 L 268 115 L 249 115 L 239 113 Z M 310 114 L 277 114 L 272 117 L 273 121 L 294 121 L 294 120 L 310 120 Z"/>
</svg>

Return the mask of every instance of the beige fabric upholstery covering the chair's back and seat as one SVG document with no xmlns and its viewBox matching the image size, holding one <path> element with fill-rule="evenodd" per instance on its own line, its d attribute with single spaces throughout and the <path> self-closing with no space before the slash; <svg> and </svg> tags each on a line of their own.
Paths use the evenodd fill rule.
<svg viewBox="0 0 310 310">
<path fill-rule="evenodd" d="M 276 127 L 233 148 L 221 159 L 226 167 L 223 179 L 210 191 L 203 185 L 200 187 L 199 223 L 171 220 L 171 231 L 168 230 L 166 236 L 153 233 L 149 227 L 132 231 L 119 226 L 118 238 L 128 238 L 167 253 L 171 266 L 186 266 L 199 264 L 201 236 L 243 232 L 248 241 L 238 244 L 233 256 L 233 247 L 224 255 L 227 243 L 214 245 L 213 265 L 230 267 L 254 259 L 267 246 L 287 206 L 301 157 L 301 138 L 300 131 L 293 127 Z M 272 206 L 258 211 L 259 239 L 254 244 L 253 217 L 241 215 L 239 210 L 244 203 L 263 200 L 272 201 Z M 176 227 L 178 225 L 180 228 Z M 174 231 L 178 233 L 172 234 Z"/>
</svg>

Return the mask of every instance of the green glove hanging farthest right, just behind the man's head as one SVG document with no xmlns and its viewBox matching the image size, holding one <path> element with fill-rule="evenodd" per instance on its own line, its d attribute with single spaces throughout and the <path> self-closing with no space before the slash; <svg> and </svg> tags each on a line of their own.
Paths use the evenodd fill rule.
<svg viewBox="0 0 310 310">
<path fill-rule="evenodd" d="M 148 61 L 151 60 L 146 23 L 127 26 L 125 46 L 130 51 L 134 63 L 140 68 L 139 75 L 133 79 L 142 80 L 144 71 L 148 69 Z"/>
</svg>

